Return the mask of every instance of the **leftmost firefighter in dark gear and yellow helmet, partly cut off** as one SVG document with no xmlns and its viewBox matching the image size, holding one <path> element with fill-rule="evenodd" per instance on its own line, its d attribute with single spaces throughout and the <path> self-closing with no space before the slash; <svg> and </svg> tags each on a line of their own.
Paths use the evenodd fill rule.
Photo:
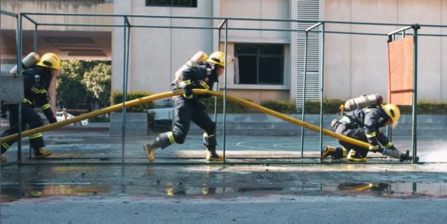
<svg viewBox="0 0 447 224">
<path fill-rule="evenodd" d="M 43 126 L 43 120 L 38 113 L 34 111 L 35 107 L 40 107 L 48 122 L 56 122 L 53 111 L 48 103 L 49 96 L 47 93 L 53 77 L 56 77 L 61 70 L 61 60 L 59 56 L 53 53 L 47 53 L 40 58 L 35 66 L 23 71 L 24 79 L 24 99 L 22 102 L 22 130 L 26 129 L 26 125 L 30 129 Z M 8 136 L 18 132 L 17 113 L 18 104 L 8 105 L 10 128 L 4 131 L 1 136 Z M 6 152 L 15 141 L 1 143 L 1 154 Z M 45 143 L 41 133 L 31 134 L 29 143 L 33 148 L 34 158 L 41 159 L 47 157 L 52 152 L 45 150 Z M 1 161 L 5 162 L 6 158 L 1 156 Z"/>
</svg>

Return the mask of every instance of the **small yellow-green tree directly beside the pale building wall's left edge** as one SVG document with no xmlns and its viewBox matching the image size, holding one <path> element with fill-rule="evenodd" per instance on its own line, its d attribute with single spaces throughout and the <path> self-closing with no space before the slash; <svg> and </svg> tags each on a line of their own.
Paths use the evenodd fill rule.
<svg viewBox="0 0 447 224">
<path fill-rule="evenodd" d="M 111 81 L 112 66 L 99 63 L 93 67 L 93 70 L 84 73 L 82 83 L 86 90 L 93 95 L 93 98 L 100 103 L 100 106 L 109 106 Z"/>
</svg>

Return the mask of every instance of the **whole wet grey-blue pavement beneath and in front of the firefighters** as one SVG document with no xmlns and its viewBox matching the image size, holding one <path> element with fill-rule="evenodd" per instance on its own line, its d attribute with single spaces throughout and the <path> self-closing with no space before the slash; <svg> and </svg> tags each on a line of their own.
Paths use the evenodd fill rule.
<svg viewBox="0 0 447 224">
<path fill-rule="evenodd" d="M 1 168 L 2 223 L 445 223 L 447 141 L 423 139 L 420 164 L 378 155 L 370 163 L 319 164 L 301 156 L 299 138 L 227 136 L 229 163 L 206 163 L 201 136 L 156 154 L 151 137 L 104 129 L 45 134 L 54 154 L 24 165 L 12 148 Z M 153 137 L 153 136 L 152 136 Z M 331 140 L 327 140 L 331 143 Z M 335 144 L 335 141 L 332 142 Z M 400 148 L 407 138 L 396 137 Z M 222 145 L 220 139 L 219 145 Z M 318 138 L 306 138 L 312 149 Z M 221 151 L 220 151 L 221 152 Z M 319 156 L 305 150 L 306 157 Z M 315 162 L 315 164 L 310 164 Z M 281 164 L 284 163 L 284 164 Z M 358 217 L 361 217 L 359 219 Z"/>
</svg>

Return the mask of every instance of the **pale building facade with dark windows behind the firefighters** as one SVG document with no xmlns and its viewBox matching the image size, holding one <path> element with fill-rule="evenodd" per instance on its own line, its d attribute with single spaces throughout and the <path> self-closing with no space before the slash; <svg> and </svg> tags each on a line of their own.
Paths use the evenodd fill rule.
<svg viewBox="0 0 447 224">
<path fill-rule="evenodd" d="M 447 0 L 95 0 L 95 1 L 1 1 L 1 9 L 13 13 L 93 13 L 185 17 L 232 17 L 252 19 L 312 19 L 391 24 L 446 24 Z M 121 17 L 38 17 L 44 22 L 123 24 Z M 2 58 L 14 57 L 14 22 L 2 16 Z M 195 52 L 222 49 L 225 33 L 213 29 L 139 28 L 137 26 L 218 27 L 220 19 L 130 19 L 130 66 L 128 91 L 170 90 L 174 72 Z M 297 104 L 303 90 L 303 30 L 310 24 L 248 21 L 228 23 L 229 94 L 252 99 L 292 100 Z M 326 24 L 326 31 L 389 33 L 400 26 Z M 112 90 L 123 88 L 122 27 L 39 27 L 39 51 L 55 51 L 62 58 L 112 60 Z M 236 30 L 235 30 L 236 29 Z M 240 30 L 251 29 L 251 30 Z M 271 29 L 259 31 L 257 29 Z M 24 52 L 32 46 L 33 26 L 24 24 Z M 420 33 L 442 34 L 441 28 Z M 310 37 L 308 99 L 319 99 L 319 36 Z M 312 39 L 313 38 L 313 39 Z M 78 41 L 79 40 L 79 41 Z M 386 35 L 326 33 L 324 46 L 324 98 L 348 99 L 380 93 L 386 97 L 388 47 Z M 418 46 L 418 99 L 444 102 L 447 91 L 445 38 L 420 36 Z M 223 49 L 222 49 L 223 51 Z M 11 53 L 12 52 L 12 53 Z M 2 59 L 3 60 L 3 59 Z M 223 87 L 220 79 L 219 86 Z"/>
</svg>

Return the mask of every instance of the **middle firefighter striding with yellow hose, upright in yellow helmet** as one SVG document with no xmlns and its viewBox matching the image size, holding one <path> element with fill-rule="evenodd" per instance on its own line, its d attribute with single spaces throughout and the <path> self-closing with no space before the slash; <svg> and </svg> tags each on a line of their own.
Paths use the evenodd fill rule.
<svg viewBox="0 0 447 224">
<path fill-rule="evenodd" d="M 144 152 L 146 152 L 146 157 L 149 161 L 153 162 L 156 149 L 163 149 L 174 143 L 183 144 L 190 129 L 191 121 L 204 129 L 203 143 L 206 147 L 206 160 L 223 160 L 215 152 L 215 145 L 217 145 L 215 122 L 209 118 L 201 102 L 201 99 L 211 97 L 211 95 L 196 96 L 192 94 L 192 89 L 213 89 L 214 82 L 218 81 L 224 69 L 225 54 L 221 51 L 215 51 L 202 63 L 188 67 L 181 72 L 177 88 L 183 90 L 183 95 L 175 98 L 172 131 L 162 133 L 154 141 L 143 145 Z"/>
</svg>

